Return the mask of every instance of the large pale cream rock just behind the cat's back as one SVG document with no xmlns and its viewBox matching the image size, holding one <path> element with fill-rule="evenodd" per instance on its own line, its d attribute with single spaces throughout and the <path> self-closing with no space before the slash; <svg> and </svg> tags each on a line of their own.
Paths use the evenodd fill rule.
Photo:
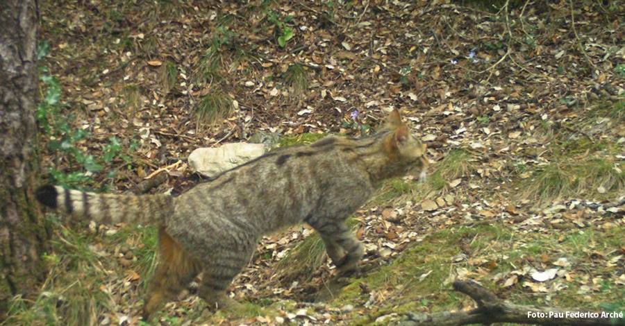
<svg viewBox="0 0 625 326">
<path fill-rule="evenodd" d="M 231 143 L 217 148 L 197 148 L 188 160 L 194 172 L 210 178 L 253 160 L 266 151 L 263 144 Z"/>
</svg>

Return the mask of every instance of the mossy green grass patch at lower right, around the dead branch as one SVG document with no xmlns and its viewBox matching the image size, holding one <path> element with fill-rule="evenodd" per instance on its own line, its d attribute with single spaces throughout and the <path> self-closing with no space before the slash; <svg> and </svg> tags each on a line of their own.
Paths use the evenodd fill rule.
<svg viewBox="0 0 625 326">
<path fill-rule="evenodd" d="M 608 231 L 588 228 L 566 231 L 563 234 L 515 234 L 506 224 L 460 226 L 442 230 L 428 235 L 412 248 L 401 252 L 387 266 L 381 266 L 361 279 L 353 279 L 351 284 L 338 293 L 335 300 L 327 303 L 337 306 L 347 303 L 365 304 L 369 293 L 363 292 L 363 285 L 370 293 L 384 293 L 378 296 L 376 310 L 357 320 L 355 325 L 372 323 L 377 316 L 392 312 L 401 314 L 423 311 L 424 308 L 429 311 L 458 309 L 470 300 L 449 289 L 458 271 L 465 271 L 469 279 L 478 280 L 494 293 L 506 293 L 502 297 L 510 302 L 585 307 L 591 310 L 599 309 L 601 304 L 608 304 L 619 311 L 625 307 L 622 300 L 625 289 L 619 284 L 613 284 L 606 277 L 611 275 L 615 279 L 619 272 L 606 266 L 590 273 L 589 268 L 592 267 L 588 261 L 608 260 L 617 255 L 622 246 L 618 240 L 622 239 L 619 234 L 624 230 L 621 226 Z M 606 257 L 597 257 L 594 253 L 597 251 L 605 253 Z M 528 266 L 537 269 L 551 267 L 548 261 L 541 261 L 544 259 L 542 257 L 546 257 L 548 261 L 566 257 L 572 265 L 559 268 L 574 275 L 574 279 L 570 281 L 565 282 L 562 278 L 553 281 L 565 282 L 567 286 L 551 293 L 549 296 L 552 301 L 547 304 L 541 300 L 546 294 L 533 293 L 522 281 L 507 290 L 502 288 L 499 283 L 501 281 L 493 281 L 498 274 L 513 275 L 512 273 L 519 273 Z M 588 301 L 587 295 L 577 293 L 582 285 L 589 284 L 584 275 L 604 275 L 603 281 L 599 281 L 599 290 L 588 293 L 592 295 L 592 302 Z M 524 277 L 529 278 L 529 275 Z M 531 282 L 527 278 L 524 280 Z M 551 285 L 549 282 L 546 284 Z"/>
</svg>

